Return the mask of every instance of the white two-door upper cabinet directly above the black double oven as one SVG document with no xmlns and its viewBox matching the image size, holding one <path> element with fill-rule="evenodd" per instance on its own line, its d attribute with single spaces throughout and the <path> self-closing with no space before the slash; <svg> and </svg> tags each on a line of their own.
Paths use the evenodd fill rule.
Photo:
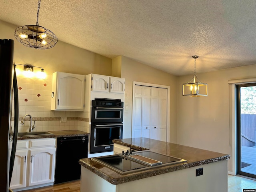
<svg viewBox="0 0 256 192">
<path fill-rule="evenodd" d="M 92 74 L 92 91 L 124 93 L 124 78 Z"/>
</svg>

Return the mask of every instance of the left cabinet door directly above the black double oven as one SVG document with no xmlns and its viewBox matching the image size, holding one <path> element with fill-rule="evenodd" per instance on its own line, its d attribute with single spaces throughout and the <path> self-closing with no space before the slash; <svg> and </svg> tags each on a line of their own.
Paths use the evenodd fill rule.
<svg viewBox="0 0 256 192">
<path fill-rule="evenodd" d="M 92 74 L 92 91 L 108 92 L 109 76 Z"/>
</svg>

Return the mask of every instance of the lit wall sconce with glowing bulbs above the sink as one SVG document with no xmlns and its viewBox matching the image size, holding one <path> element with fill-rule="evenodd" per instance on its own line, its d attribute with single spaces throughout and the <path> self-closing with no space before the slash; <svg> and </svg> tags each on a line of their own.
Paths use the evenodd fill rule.
<svg viewBox="0 0 256 192">
<path fill-rule="evenodd" d="M 32 66 L 28 64 L 14 64 L 14 65 L 22 65 L 23 66 L 23 75 L 28 78 L 39 78 L 39 79 L 45 79 L 46 78 L 46 73 L 44 72 L 44 69 L 42 67 L 37 67 L 37 66 Z M 40 68 L 40 71 L 34 72 L 34 68 Z M 20 72 L 21 73 L 21 72 Z M 19 74 L 19 72 L 18 72 Z"/>
</svg>

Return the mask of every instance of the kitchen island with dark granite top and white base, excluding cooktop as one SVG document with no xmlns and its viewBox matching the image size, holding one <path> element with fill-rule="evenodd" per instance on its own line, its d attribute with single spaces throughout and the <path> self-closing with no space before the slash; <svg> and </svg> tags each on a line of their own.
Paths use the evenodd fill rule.
<svg viewBox="0 0 256 192">
<path fill-rule="evenodd" d="M 81 192 L 228 191 L 227 160 L 230 155 L 148 138 L 128 138 L 113 142 L 116 153 L 129 149 L 150 150 L 182 158 L 187 162 L 120 174 L 91 158 L 81 159 Z M 197 171 L 200 168 L 203 168 L 202 172 Z M 196 176 L 196 172 L 202 175 Z"/>
</svg>

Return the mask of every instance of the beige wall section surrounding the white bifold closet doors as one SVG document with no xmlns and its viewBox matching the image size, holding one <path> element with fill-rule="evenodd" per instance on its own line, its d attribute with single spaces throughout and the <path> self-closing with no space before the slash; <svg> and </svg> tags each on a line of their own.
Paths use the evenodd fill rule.
<svg viewBox="0 0 256 192">
<path fill-rule="evenodd" d="M 176 85 L 177 77 L 140 62 L 122 56 L 122 78 L 125 78 L 124 135 L 132 133 L 132 88 L 133 81 L 170 86 L 170 142 L 176 143 Z"/>
</svg>

